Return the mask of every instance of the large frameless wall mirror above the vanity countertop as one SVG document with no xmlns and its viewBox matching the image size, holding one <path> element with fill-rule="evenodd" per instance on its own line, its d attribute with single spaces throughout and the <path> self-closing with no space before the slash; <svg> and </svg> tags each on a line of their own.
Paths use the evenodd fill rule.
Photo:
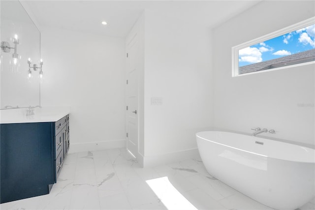
<svg viewBox="0 0 315 210">
<path fill-rule="evenodd" d="M 0 1 L 0 108 L 40 105 L 40 32 L 18 0 Z"/>
</svg>

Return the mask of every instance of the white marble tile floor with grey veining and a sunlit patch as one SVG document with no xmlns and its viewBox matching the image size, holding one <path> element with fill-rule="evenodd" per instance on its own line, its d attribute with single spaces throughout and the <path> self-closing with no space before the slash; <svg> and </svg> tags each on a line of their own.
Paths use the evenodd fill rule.
<svg viewBox="0 0 315 210">
<path fill-rule="evenodd" d="M 126 149 L 69 153 L 50 194 L 1 210 L 273 210 L 209 175 L 201 160 L 141 168 Z M 314 199 L 299 210 L 314 210 Z"/>
</svg>

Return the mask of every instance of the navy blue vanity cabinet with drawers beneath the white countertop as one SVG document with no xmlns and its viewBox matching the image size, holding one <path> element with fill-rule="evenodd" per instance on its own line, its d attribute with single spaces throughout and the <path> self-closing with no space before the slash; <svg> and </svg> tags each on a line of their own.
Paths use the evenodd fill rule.
<svg viewBox="0 0 315 210">
<path fill-rule="evenodd" d="M 50 192 L 69 149 L 68 122 L 0 124 L 0 203 Z"/>
</svg>

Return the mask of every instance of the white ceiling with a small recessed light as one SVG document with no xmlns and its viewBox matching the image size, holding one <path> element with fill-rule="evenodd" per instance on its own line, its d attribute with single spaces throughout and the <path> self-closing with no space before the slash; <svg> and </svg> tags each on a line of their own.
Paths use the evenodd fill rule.
<svg viewBox="0 0 315 210">
<path fill-rule="evenodd" d="M 253 0 L 27 0 L 39 27 L 126 37 L 144 10 L 213 28 L 252 7 Z M 106 26 L 101 25 L 106 21 Z"/>
</svg>

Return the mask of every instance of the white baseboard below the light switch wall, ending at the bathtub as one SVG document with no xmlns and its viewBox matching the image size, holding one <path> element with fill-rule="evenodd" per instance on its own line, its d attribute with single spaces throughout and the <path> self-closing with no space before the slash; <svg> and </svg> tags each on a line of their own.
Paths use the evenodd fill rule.
<svg viewBox="0 0 315 210">
<path fill-rule="evenodd" d="M 160 155 L 145 155 L 143 157 L 143 167 L 152 167 L 160 164 L 167 164 L 191 158 L 200 159 L 198 148 L 176 151 Z"/>
</svg>

